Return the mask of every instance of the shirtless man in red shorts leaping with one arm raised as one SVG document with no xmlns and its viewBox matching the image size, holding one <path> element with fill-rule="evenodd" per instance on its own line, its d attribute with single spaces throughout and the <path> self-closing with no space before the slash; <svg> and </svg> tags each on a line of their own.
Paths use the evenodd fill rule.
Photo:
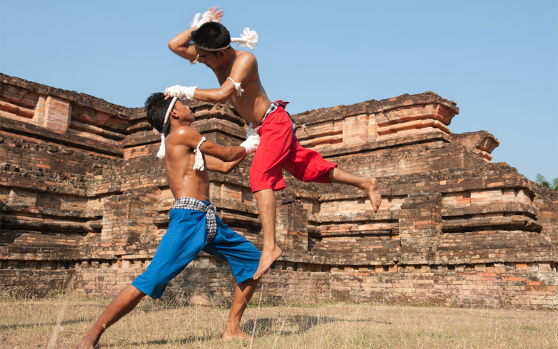
<svg viewBox="0 0 558 349">
<path fill-rule="evenodd" d="M 285 111 L 286 102 L 271 103 L 259 80 L 257 61 L 248 51 L 234 50 L 231 42 L 253 49 L 257 43 L 255 31 L 244 29 L 241 38 L 231 38 L 220 24 L 223 10 L 209 8 L 201 17 L 195 16 L 190 29 L 169 41 L 169 48 L 190 63 L 202 63 L 211 68 L 220 84 L 218 89 L 173 86 L 168 97 L 190 98 L 210 103 L 230 101 L 239 114 L 259 133 L 260 142 L 250 169 L 250 186 L 257 200 L 259 217 L 264 230 L 264 247 L 254 279 L 259 279 L 281 255 L 276 244 L 276 199 L 274 191 L 285 188 L 281 169 L 296 179 L 308 182 L 340 183 L 361 188 L 368 194 L 376 212 L 382 202 L 377 179 L 364 178 L 337 168 L 316 151 L 301 147 L 294 135 L 294 121 Z M 252 129 L 255 128 L 255 130 Z M 254 137 L 255 135 L 250 135 Z M 257 137 L 257 136 L 255 136 Z"/>
</svg>

